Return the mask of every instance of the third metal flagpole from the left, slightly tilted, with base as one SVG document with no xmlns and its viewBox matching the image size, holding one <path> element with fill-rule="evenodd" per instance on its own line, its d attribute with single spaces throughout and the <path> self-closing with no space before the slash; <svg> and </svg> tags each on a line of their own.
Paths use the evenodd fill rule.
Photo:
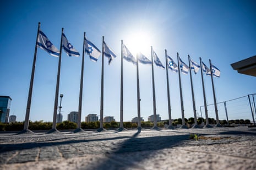
<svg viewBox="0 0 256 170">
<path fill-rule="evenodd" d="M 84 32 L 84 43 L 83 43 L 83 57 L 81 64 L 81 79 L 80 79 L 80 92 L 79 92 L 79 105 L 78 105 L 78 123 L 77 129 L 74 130 L 74 133 L 79 131 L 84 131 L 81 129 L 81 112 L 82 112 L 82 101 L 83 101 L 83 82 L 84 82 L 84 53 L 85 53 L 85 32 Z"/>
</svg>

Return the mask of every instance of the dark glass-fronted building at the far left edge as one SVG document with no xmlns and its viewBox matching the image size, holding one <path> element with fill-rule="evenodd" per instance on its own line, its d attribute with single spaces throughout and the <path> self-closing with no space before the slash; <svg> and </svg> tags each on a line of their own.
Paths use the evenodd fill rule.
<svg viewBox="0 0 256 170">
<path fill-rule="evenodd" d="M 0 122 L 2 123 L 8 123 L 11 101 L 12 98 L 9 96 L 0 96 Z"/>
</svg>

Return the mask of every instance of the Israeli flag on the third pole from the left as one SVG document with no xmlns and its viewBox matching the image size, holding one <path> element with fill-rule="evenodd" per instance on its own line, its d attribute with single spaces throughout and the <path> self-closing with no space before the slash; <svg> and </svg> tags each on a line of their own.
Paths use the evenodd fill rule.
<svg viewBox="0 0 256 170">
<path fill-rule="evenodd" d="M 89 55 L 91 61 L 97 62 L 98 58 L 100 57 L 101 51 L 91 41 L 86 39 L 86 37 L 84 37 L 84 41 L 86 54 Z"/>
</svg>

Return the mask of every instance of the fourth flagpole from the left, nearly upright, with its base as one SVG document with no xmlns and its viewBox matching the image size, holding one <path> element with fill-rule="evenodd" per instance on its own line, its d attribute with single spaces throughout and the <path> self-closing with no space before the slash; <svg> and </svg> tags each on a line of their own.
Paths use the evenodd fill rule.
<svg viewBox="0 0 256 170">
<path fill-rule="evenodd" d="M 100 128 L 98 132 L 105 130 L 103 128 L 103 105 L 104 105 L 104 36 L 102 36 L 102 62 L 101 62 L 101 93 L 100 93 Z"/>
</svg>

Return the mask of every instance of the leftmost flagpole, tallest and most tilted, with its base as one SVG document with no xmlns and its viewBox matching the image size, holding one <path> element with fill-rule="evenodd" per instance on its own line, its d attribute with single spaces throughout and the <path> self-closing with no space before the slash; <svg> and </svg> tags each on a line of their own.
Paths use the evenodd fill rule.
<svg viewBox="0 0 256 170">
<path fill-rule="evenodd" d="M 31 78 L 30 78 L 30 85 L 29 85 L 28 102 L 27 102 L 27 105 L 26 105 L 26 116 L 25 116 L 24 128 L 23 128 L 22 131 L 20 131 L 20 133 L 32 133 L 32 131 L 29 130 L 29 114 L 30 114 L 31 98 L 32 98 L 32 91 L 33 91 L 33 84 L 34 84 L 34 76 L 35 76 L 36 56 L 37 56 L 37 39 L 39 37 L 40 25 L 41 25 L 41 23 L 39 22 L 38 23 L 38 28 L 37 28 L 35 53 L 34 53 L 34 60 L 33 60 Z"/>
</svg>

